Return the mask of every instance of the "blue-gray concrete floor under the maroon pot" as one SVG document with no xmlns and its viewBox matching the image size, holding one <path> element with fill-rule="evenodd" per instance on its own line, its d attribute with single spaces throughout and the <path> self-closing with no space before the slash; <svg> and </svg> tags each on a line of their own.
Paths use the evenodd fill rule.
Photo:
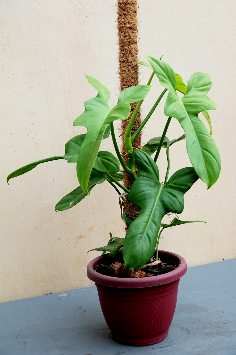
<svg viewBox="0 0 236 355">
<path fill-rule="evenodd" d="M 0 304 L 0 355 L 236 355 L 236 259 L 195 266 L 179 283 L 169 334 L 141 348 L 111 338 L 96 287 Z"/>
</svg>

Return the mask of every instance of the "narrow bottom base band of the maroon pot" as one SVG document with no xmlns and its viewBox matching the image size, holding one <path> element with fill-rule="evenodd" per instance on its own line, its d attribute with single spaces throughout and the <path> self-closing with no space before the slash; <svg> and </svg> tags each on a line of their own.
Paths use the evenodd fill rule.
<svg viewBox="0 0 236 355">
<path fill-rule="evenodd" d="M 152 337 L 145 337 L 145 338 L 130 338 L 130 337 L 126 338 L 126 337 L 122 337 L 119 334 L 114 334 L 113 332 L 111 332 L 111 335 L 117 343 L 123 345 L 146 346 L 146 345 L 156 344 L 164 340 L 168 335 L 168 331 L 169 329 L 167 329 L 167 331 L 161 334 L 157 334 Z"/>
</svg>

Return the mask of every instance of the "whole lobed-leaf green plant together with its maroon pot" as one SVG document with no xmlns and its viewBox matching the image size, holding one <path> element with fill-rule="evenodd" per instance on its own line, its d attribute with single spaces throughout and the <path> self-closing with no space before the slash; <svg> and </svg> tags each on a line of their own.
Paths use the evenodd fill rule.
<svg viewBox="0 0 236 355">
<path fill-rule="evenodd" d="M 114 339 L 132 345 L 154 344 L 167 336 L 175 310 L 179 279 L 186 272 L 186 262 L 182 257 L 158 250 L 161 235 L 159 230 L 161 227 L 162 231 L 164 228 L 190 222 L 180 221 L 175 217 L 171 223 L 163 224 L 162 218 L 168 213 L 183 211 L 184 193 L 198 178 L 204 181 L 209 189 L 220 173 L 220 156 L 211 136 L 211 120 L 207 112 L 216 109 L 216 104 L 207 96 L 211 79 L 206 73 L 197 72 L 190 77 L 186 86 L 182 77 L 165 61 L 152 56 L 146 58 L 148 62 L 139 64 L 152 69 L 147 85 L 123 90 L 113 108 L 108 104 L 108 89 L 93 77 L 86 76 L 98 94 L 85 102 L 85 111 L 76 118 L 74 126 L 87 127 L 87 133 L 67 142 L 63 156 L 25 165 L 7 177 L 8 182 L 11 178 L 34 169 L 38 164 L 66 159 L 68 163 L 76 163 L 80 186 L 57 203 L 56 211 L 74 207 L 90 195 L 95 185 L 105 181 L 119 193 L 121 206 L 124 206 L 124 201 L 128 198 L 140 207 L 140 213 L 133 221 L 129 221 L 126 211 L 123 211 L 123 217 L 129 224 L 125 238 L 111 235 L 108 245 L 93 249 L 102 251 L 103 255 L 91 261 L 87 267 L 88 277 L 97 285 L 102 310 Z M 150 83 L 155 74 L 164 90 L 140 127 L 131 135 L 137 113 L 151 89 Z M 164 113 L 168 118 L 162 135 L 151 138 L 140 149 L 134 150 L 132 142 L 167 91 Z M 180 97 L 177 91 L 182 93 L 183 97 Z M 125 132 L 128 155 L 126 165 L 116 142 L 113 122 L 127 119 L 130 103 L 136 102 L 136 109 Z M 198 118 L 200 112 L 203 112 L 207 119 L 210 133 Z M 166 133 L 172 117 L 179 121 L 184 134 L 169 140 Z M 99 151 L 102 140 L 109 135 L 112 137 L 118 159 L 110 152 Z M 181 168 L 169 178 L 169 148 L 184 139 L 192 166 Z M 165 181 L 160 183 L 156 163 L 162 148 L 166 150 L 168 165 Z M 123 179 L 120 166 L 133 181 L 130 191 L 120 182 Z M 125 192 L 122 193 L 122 190 Z M 105 252 L 109 254 L 104 255 Z M 114 257 L 116 259 L 113 259 Z M 112 276 L 94 270 L 104 263 L 108 263 L 109 271 L 113 272 Z M 173 266 L 172 271 L 161 275 L 145 272 L 145 268 L 165 268 L 166 264 Z"/>
</svg>

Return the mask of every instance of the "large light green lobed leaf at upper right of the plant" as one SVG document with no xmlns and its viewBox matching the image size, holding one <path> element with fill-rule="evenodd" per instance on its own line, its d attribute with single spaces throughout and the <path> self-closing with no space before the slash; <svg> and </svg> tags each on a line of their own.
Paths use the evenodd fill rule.
<svg viewBox="0 0 236 355">
<path fill-rule="evenodd" d="M 183 127 L 192 166 L 209 189 L 220 173 L 220 155 L 206 126 L 198 118 L 198 113 L 217 108 L 217 105 L 206 95 L 211 88 L 211 79 L 206 73 L 194 73 L 187 83 L 186 94 L 183 98 L 179 98 L 171 67 L 166 62 L 150 56 L 147 58 L 160 83 L 169 89 L 164 112 L 167 116 L 177 118 Z"/>
</svg>

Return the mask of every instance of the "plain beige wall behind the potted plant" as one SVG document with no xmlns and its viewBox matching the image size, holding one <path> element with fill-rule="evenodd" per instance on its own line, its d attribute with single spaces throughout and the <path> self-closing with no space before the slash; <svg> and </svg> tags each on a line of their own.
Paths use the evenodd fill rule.
<svg viewBox="0 0 236 355">
<path fill-rule="evenodd" d="M 163 54 L 186 82 L 195 71 L 209 73 L 214 139 L 222 171 L 206 190 L 198 181 L 185 196 L 183 220 L 205 224 L 163 232 L 161 249 L 180 253 L 188 265 L 235 257 L 235 10 L 234 0 L 140 0 L 139 56 Z M 22 165 L 64 154 L 64 143 L 85 132 L 73 127 L 94 89 L 84 73 L 119 92 L 116 1 L 3 0 L 1 4 L 1 248 L 0 301 L 92 285 L 86 265 L 113 235 L 123 236 L 117 194 L 108 183 L 94 188 L 76 207 L 56 213 L 55 204 L 77 187 L 75 165 L 49 162 L 11 180 Z M 140 70 L 146 83 L 150 72 Z M 157 80 L 143 115 L 162 91 Z M 144 132 L 161 134 L 163 104 Z M 173 119 L 170 139 L 182 134 Z M 107 143 L 107 141 L 106 141 Z M 171 150 L 171 173 L 188 166 L 184 142 Z M 103 146 L 104 148 L 104 142 Z M 180 150 L 178 149 L 180 148 Z M 111 140 L 108 148 L 113 152 Z M 178 150 L 177 150 L 178 149 Z M 166 162 L 159 169 L 164 176 Z"/>
</svg>

